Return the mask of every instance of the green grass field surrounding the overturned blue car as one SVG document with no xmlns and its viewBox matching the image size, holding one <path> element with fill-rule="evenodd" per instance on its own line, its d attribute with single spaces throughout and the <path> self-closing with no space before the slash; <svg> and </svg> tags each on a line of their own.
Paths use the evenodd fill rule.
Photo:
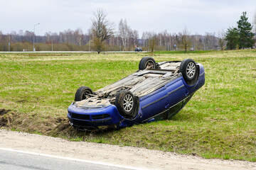
<svg viewBox="0 0 256 170">
<path fill-rule="evenodd" d="M 66 113 L 78 87 L 97 90 L 111 84 L 135 72 L 146 55 L 0 54 L 0 126 L 69 140 L 256 161 L 256 50 L 156 52 L 156 62 L 192 58 L 206 69 L 206 84 L 172 120 L 93 133 L 70 127 Z"/>
</svg>

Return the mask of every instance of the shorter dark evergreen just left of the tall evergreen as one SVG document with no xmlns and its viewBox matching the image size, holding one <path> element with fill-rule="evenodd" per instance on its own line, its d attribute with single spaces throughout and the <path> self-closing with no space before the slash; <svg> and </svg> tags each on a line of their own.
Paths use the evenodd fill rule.
<svg viewBox="0 0 256 170">
<path fill-rule="evenodd" d="M 225 40 L 227 40 L 228 50 L 237 49 L 239 43 L 239 33 L 237 28 L 228 28 Z"/>
</svg>

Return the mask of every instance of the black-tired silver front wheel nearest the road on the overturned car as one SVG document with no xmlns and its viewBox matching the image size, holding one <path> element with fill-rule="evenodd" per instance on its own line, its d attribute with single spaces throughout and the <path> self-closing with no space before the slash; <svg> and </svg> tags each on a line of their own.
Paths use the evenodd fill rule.
<svg viewBox="0 0 256 170">
<path fill-rule="evenodd" d="M 124 118 L 134 117 L 134 108 L 136 104 L 134 95 L 131 91 L 122 90 L 117 92 L 114 105 L 117 106 L 117 110 L 124 116 Z"/>
</svg>

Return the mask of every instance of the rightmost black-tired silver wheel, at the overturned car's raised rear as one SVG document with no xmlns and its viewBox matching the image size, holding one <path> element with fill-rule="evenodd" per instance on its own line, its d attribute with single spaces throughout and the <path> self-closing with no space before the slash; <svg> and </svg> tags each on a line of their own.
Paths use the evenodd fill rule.
<svg viewBox="0 0 256 170">
<path fill-rule="evenodd" d="M 181 72 L 186 84 L 193 85 L 198 79 L 199 69 L 196 62 L 192 59 L 185 59 L 181 62 L 179 72 Z"/>
</svg>

